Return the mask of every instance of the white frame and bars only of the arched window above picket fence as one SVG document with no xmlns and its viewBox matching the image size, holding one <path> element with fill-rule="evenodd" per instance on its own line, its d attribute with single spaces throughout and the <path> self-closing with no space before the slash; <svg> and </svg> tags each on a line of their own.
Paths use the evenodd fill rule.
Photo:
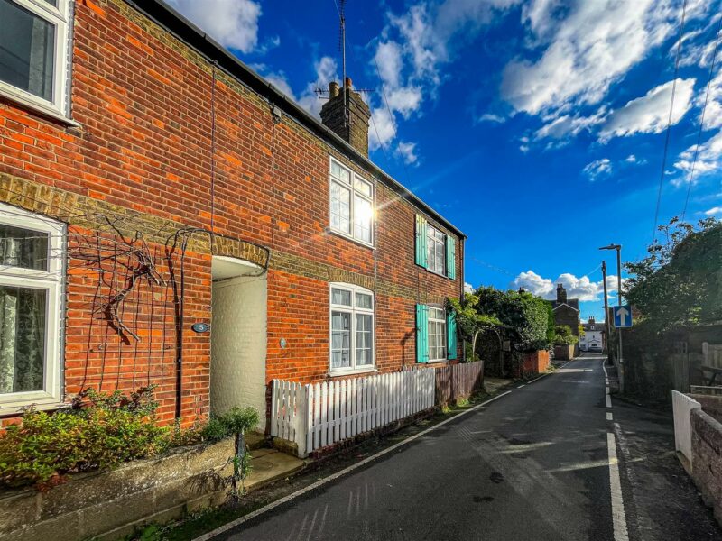
<svg viewBox="0 0 722 541">
<path fill-rule="evenodd" d="M 333 304 L 333 290 L 342 289 L 351 294 L 351 306 Z M 371 296 L 371 309 L 356 307 L 356 293 Z M 354 284 L 343 282 L 329 283 L 329 375 L 345 376 L 348 374 L 359 374 L 376 371 L 376 299 L 374 292 Z M 333 367 L 333 313 L 344 312 L 351 316 L 351 366 L 343 368 Z M 371 316 L 371 364 L 362 364 L 356 367 L 356 314 Z"/>
</svg>

